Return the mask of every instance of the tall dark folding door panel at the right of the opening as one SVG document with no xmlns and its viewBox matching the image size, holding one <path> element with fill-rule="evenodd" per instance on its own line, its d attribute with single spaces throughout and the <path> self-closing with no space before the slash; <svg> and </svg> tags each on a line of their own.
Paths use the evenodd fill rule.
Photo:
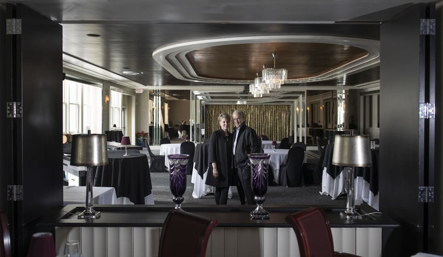
<svg viewBox="0 0 443 257">
<path fill-rule="evenodd" d="M 384 256 L 411 256 L 423 250 L 424 123 L 418 108 L 424 90 L 424 36 L 417 4 L 381 26 L 380 210 L 402 226 L 387 241 Z"/>
</svg>

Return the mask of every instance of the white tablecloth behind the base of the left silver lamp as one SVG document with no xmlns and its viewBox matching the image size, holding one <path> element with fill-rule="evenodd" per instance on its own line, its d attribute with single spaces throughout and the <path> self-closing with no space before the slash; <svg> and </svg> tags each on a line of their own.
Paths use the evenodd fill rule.
<svg viewBox="0 0 443 257">
<path fill-rule="evenodd" d="M 94 204 L 117 204 L 113 187 L 92 187 Z M 86 187 L 63 186 L 63 205 L 86 204 Z"/>
</svg>

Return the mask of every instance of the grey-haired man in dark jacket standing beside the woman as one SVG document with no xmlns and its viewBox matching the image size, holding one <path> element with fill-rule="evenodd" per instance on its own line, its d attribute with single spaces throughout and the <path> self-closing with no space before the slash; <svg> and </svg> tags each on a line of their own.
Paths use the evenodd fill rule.
<svg viewBox="0 0 443 257">
<path fill-rule="evenodd" d="M 245 113 L 236 110 L 232 113 L 234 121 L 233 167 L 237 168 L 240 186 L 237 187 L 241 204 L 254 204 L 254 193 L 251 188 L 251 165 L 249 153 L 260 152 L 260 143 L 256 132 L 245 125 Z M 246 202 L 245 202 L 246 195 Z"/>
</svg>

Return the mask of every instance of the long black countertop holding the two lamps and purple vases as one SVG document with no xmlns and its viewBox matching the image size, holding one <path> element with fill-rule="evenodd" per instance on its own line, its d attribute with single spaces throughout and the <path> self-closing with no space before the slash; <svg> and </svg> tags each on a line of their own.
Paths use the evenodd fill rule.
<svg viewBox="0 0 443 257">
<path fill-rule="evenodd" d="M 96 220 L 78 219 L 85 206 L 70 204 L 60 211 L 43 217 L 37 226 L 88 226 L 88 227 L 161 227 L 173 205 L 95 205 L 94 210 L 101 211 Z M 182 205 L 183 210 L 207 218 L 218 220 L 218 227 L 289 227 L 284 221 L 286 215 L 306 209 L 309 206 L 264 206 L 271 214 L 268 220 L 251 220 L 249 213 L 255 206 L 245 205 Z M 339 212 L 345 208 L 322 206 L 331 227 L 396 227 L 399 226 L 384 214 L 370 214 L 360 220 L 343 220 Z M 370 206 L 357 208 L 361 214 L 375 212 Z"/>
</svg>

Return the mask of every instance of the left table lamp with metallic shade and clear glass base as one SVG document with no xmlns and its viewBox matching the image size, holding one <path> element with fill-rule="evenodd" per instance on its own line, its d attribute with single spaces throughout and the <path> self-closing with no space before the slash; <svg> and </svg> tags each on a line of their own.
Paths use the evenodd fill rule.
<svg viewBox="0 0 443 257">
<path fill-rule="evenodd" d="M 73 135 L 71 165 L 86 166 L 86 206 L 78 215 L 79 219 L 100 218 L 100 212 L 93 209 L 92 167 L 108 164 L 106 135 L 77 134 Z"/>
</svg>

